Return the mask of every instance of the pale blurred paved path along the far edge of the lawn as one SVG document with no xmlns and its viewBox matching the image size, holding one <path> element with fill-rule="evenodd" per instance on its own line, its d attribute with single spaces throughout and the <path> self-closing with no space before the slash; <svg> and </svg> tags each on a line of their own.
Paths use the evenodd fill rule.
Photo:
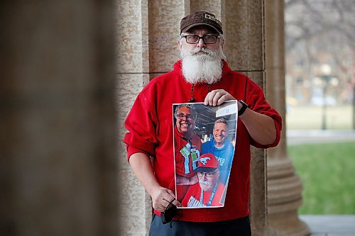
<svg viewBox="0 0 355 236">
<path fill-rule="evenodd" d="M 288 145 L 344 141 L 355 143 L 355 130 L 287 130 L 286 136 Z"/>
</svg>

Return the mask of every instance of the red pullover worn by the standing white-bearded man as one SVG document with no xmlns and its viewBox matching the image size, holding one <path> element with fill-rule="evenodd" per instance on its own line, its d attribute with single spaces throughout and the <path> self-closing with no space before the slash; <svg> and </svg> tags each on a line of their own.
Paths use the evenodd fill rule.
<svg viewBox="0 0 355 236">
<path fill-rule="evenodd" d="M 179 220 L 211 222 L 231 220 L 249 215 L 250 145 L 260 148 L 275 147 L 280 141 L 282 119 L 266 102 L 260 86 L 246 75 L 231 71 L 223 62 L 222 78 L 211 84 L 209 91 L 224 89 L 235 99 L 241 99 L 251 110 L 273 118 L 276 139 L 271 145 L 261 145 L 251 139 L 246 127 L 238 119 L 236 151 L 229 176 L 226 201 L 222 208 L 197 208 L 179 210 Z M 174 64 L 171 72 L 162 74 L 138 94 L 133 103 L 125 126 L 128 132 L 124 137 L 128 158 L 136 152 L 153 157 L 153 169 L 160 186 L 175 192 L 174 149 L 173 149 L 173 103 L 187 103 L 191 98 L 192 84 L 182 76 L 181 61 Z M 195 84 L 193 97 L 203 102 L 208 93 L 208 85 Z M 155 213 L 160 215 L 158 211 Z"/>
</svg>

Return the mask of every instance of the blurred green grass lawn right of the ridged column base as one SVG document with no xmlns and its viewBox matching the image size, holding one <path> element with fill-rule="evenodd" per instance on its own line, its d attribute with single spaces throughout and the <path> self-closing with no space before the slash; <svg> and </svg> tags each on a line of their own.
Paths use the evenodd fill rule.
<svg viewBox="0 0 355 236">
<path fill-rule="evenodd" d="M 355 143 L 288 147 L 303 183 L 300 214 L 355 214 Z"/>
</svg>

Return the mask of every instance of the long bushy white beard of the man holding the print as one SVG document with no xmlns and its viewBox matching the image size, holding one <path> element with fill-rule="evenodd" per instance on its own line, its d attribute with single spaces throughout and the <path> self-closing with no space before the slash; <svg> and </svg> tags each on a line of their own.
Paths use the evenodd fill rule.
<svg viewBox="0 0 355 236">
<path fill-rule="evenodd" d="M 197 52 L 206 52 L 206 54 L 199 55 Z M 216 51 L 204 47 L 192 51 L 182 49 L 180 57 L 182 59 L 182 74 L 187 82 L 191 84 L 198 82 L 214 84 L 221 79 L 222 59 L 226 60 L 222 47 L 219 47 L 219 50 Z"/>
</svg>

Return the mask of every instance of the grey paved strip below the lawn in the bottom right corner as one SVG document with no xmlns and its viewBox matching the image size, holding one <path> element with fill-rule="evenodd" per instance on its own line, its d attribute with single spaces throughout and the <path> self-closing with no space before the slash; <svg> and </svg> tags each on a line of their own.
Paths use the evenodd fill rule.
<svg viewBox="0 0 355 236">
<path fill-rule="evenodd" d="M 354 236 L 355 215 L 300 215 L 312 236 Z"/>
</svg>

